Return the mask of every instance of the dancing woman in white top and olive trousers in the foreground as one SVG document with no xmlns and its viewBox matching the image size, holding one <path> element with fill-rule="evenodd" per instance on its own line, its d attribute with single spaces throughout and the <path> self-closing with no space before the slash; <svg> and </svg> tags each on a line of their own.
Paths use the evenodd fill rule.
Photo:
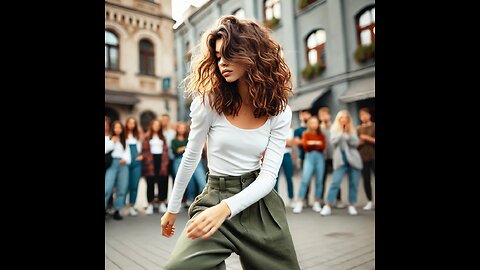
<svg viewBox="0 0 480 270">
<path fill-rule="evenodd" d="M 225 269 L 232 252 L 244 269 L 300 269 L 285 205 L 273 190 L 292 120 L 291 73 L 268 32 L 255 21 L 224 16 L 193 54 L 191 131 L 162 217 L 164 236 L 175 232 L 206 140 L 208 182 L 165 269 Z"/>
</svg>

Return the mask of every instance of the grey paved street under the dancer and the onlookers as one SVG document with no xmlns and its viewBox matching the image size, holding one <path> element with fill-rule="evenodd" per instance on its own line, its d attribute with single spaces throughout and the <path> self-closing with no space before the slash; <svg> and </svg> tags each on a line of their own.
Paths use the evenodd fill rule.
<svg viewBox="0 0 480 270">
<path fill-rule="evenodd" d="M 330 177 L 327 180 L 329 186 Z M 299 189 L 298 174 L 294 177 L 295 194 Z M 362 180 L 360 180 L 362 181 Z M 375 190 L 375 178 L 372 188 Z M 342 183 L 342 199 L 348 196 L 347 179 Z M 139 194 L 144 194 L 142 180 Z M 287 202 L 286 183 L 280 178 L 279 193 Z M 312 193 L 311 193 L 312 194 Z M 375 194 L 375 193 L 374 193 Z M 348 215 L 347 209 L 332 209 L 332 216 L 322 217 L 311 208 L 301 214 L 293 214 L 287 209 L 287 218 L 295 244 L 301 269 L 374 269 L 375 268 L 375 211 L 362 210 L 365 205 L 363 184 L 359 184 L 358 216 Z M 142 208 L 144 198 L 138 198 L 137 207 Z M 105 220 L 106 269 L 163 269 L 180 231 L 186 221 L 186 211 L 178 214 L 177 234 L 167 239 L 161 236 L 161 215 L 155 213 L 137 217 L 126 216 L 122 221 Z M 238 256 L 232 254 L 227 261 L 227 269 L 242 269 Z M 270 270 L 270 269 L 268 269 Z"/>
</svg>

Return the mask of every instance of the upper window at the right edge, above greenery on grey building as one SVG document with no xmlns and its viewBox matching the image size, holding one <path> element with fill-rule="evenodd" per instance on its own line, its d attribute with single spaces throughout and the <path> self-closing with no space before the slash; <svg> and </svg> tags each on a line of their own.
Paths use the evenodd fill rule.
<svg viewBox="0 0 480 270">
<path fill-rule="evenodd" d="M 356 16 L 358 45 L 375 43 L 375 6 L 364 8 Z"/>
</svg>

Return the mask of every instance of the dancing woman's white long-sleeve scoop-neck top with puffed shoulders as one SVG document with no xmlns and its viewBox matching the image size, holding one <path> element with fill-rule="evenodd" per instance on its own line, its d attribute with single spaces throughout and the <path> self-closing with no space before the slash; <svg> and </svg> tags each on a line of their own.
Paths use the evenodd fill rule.
<svg viewBox="0 0 480 270">
<path fill-rule="evenodd" d="M 190 106 L 192 123 L 188 144 L 168 204 L 171 213 L 178 213 L 185 188 L 200 161 L 208 138 L 207 159 L 210 174 L 239 176 L 260 169 L 257 179 L 238 194 L 223 201 L 231 210 L 230 218 L 265 197 L 275 186 L 276 177 L 290 132 L 292 111 L 287 105 L 279 115 L 271 116 L 261 127 L 241 129 L 225 115 L 212 111 L 196 97 Z M 261 155 L 265 151 L 263 164 Z M 228 181 L 228 180 L 227 180 Z"/>
</svg>

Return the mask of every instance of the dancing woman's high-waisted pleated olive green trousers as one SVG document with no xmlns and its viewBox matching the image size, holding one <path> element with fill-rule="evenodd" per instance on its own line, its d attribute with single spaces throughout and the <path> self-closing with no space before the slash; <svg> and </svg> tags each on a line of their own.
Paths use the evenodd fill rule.
<svg viewBox="0 0 480 270">
<path fill-rule="evenodd" d="M 258 170 L 241 176 L 208 175 L 203 192 L 188 209 L 192 218 L 245 189 Z M 225 222 L 203 240 L 187 238 L 185 226 L 165 266 L 168 270 L 226 269 L 232 252 L 240 257 L 243 269 L 300 269 L 285 215 L 285 205 L 275 190 Z"/>
</svg>

